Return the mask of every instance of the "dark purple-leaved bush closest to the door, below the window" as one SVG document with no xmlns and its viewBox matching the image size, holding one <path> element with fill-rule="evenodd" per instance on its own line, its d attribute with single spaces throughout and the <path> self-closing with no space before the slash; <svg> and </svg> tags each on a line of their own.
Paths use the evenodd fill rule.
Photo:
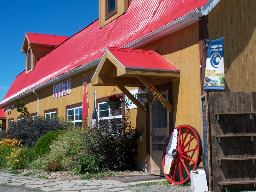
<svg viewBox="0 0 256 192">
<path fill-rule="evenodd" d="M 123 121 L 103 120 L 86 129 L 84 150 L 98 156 L 100 170 L 131 169 L 136 166 L 134 156 L 142 130 L 133 128 L 129 113 Z"/>
</svg>

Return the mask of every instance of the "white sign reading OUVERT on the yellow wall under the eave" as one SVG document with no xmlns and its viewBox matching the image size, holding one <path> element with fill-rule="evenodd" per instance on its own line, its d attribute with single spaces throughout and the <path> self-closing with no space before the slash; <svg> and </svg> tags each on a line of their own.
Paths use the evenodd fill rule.
<svg viewBox="0 0 256 192">
<path fill-rule="evenodd" d="M 53 98 L 71 93 L 71 79 L 53 85 Z"/>
</svg>

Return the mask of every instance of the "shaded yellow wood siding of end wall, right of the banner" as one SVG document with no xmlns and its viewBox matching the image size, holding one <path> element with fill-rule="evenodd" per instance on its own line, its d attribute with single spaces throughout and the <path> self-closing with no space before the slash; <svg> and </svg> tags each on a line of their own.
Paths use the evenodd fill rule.
<svg viewBox="0 0 256 192">
<path fill-rule="evenodd" d="M 225 91 L 256 91 L 256 1 L 220 0 L 208 26 L 210 40 L 225 37 Z"/>
</svg>

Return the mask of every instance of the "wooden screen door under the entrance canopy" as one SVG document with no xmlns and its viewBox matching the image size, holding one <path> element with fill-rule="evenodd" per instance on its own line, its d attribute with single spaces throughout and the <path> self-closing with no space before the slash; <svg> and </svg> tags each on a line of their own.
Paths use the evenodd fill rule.
<svg viewBox="0 0 256 192">
<path fill-rule="evenodd" d="M 168 91 L 160 92 L 164 98 L 168 98 Z M 162 156 L 164 145 L 169 136 L 169 111 L 164 108 L 159 100 L 149 105 L 150 112 L 150 165 L 151 174 L 164 176 Z"/>
</svg>

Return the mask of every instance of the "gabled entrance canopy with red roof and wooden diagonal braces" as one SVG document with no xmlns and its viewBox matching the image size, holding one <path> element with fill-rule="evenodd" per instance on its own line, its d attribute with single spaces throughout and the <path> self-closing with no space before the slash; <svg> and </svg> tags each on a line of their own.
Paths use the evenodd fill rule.
<svg viewBox="0 0 256 192">
<path fill-rule="evenodd" d="M 125 88 L 142 84 L 152 87 L 147 78 L 179 77 L 180 70 L 156 51 L 107 47 L 92 77 L 92 85 L 117 86 L 145 114 L 144 106 Z M 158 93 L 157 90 L 155 90 Z M 157 97 L 156 97 L 157 98 Z M 161 101 L 172 111 L 168 101 Z"/>
</svg>

